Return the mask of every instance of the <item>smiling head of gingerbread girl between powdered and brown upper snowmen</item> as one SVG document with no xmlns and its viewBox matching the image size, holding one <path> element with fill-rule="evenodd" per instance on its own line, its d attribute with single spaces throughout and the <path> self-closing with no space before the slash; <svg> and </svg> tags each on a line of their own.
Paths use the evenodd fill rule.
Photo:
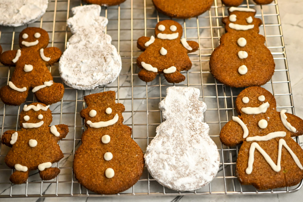
<svg viewBox="0 0 303 202">
<path fill-rule="evenodd" d="M 155 35 L 160 39 L 179 39 L 183 33 L 182 26 L 173 20 L 163 20 L 157 23 Z"/>
</svg>

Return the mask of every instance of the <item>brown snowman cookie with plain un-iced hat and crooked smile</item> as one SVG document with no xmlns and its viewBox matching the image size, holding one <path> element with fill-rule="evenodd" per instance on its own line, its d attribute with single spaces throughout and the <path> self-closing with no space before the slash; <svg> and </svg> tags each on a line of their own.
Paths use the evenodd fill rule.
<svg viewBox="0 0 303 202">
<path fill-rule="evenodd" d="M 143 152 L 123 125 L 124 105 L 115 103 L 115 92 L 87 95 L 80 114 L 87 130 L 75 152 L 73 169 L 79 183 L 98 194 L 118 194 L 141 177 Z"/>
</svg>

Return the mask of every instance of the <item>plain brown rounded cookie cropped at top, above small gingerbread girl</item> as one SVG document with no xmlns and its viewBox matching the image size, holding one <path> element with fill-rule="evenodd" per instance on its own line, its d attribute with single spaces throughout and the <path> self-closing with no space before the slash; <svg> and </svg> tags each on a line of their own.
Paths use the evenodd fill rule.
<svg viewBox="0 0 303 202">
<path fill-rule="evenodd" d="M 171 18 L 192 18 L 209 10 L 214 0 L 152 0 L 161 13 Z"/>
</svg>

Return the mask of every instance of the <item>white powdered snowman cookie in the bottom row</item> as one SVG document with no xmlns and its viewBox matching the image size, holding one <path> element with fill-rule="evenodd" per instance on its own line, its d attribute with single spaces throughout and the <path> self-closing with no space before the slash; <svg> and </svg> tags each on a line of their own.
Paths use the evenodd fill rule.
<svg viewBox="0 0 303 202">
<path fill-rule="evenodd" d="M 220 156 L 203 122 L 206 104 L 197 88 L 169 87 L 159 108 L 166 120 L 156 129 L 144 155 L 151 175 L 162 185 L 180 191 L 198 189 L 217 174 Z"/>
</svg>

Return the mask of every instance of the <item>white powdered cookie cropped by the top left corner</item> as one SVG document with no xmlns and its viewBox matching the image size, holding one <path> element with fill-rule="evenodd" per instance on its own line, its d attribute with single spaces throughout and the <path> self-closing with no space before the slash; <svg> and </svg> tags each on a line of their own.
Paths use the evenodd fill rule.
<svg viewBox="0 0 303 202">
<path fill-rule="evenodd" d="M 0 25 L 18 27 L 35 22 L 47 5 L 48 0 L 0 0 Z"/>
</svg>

